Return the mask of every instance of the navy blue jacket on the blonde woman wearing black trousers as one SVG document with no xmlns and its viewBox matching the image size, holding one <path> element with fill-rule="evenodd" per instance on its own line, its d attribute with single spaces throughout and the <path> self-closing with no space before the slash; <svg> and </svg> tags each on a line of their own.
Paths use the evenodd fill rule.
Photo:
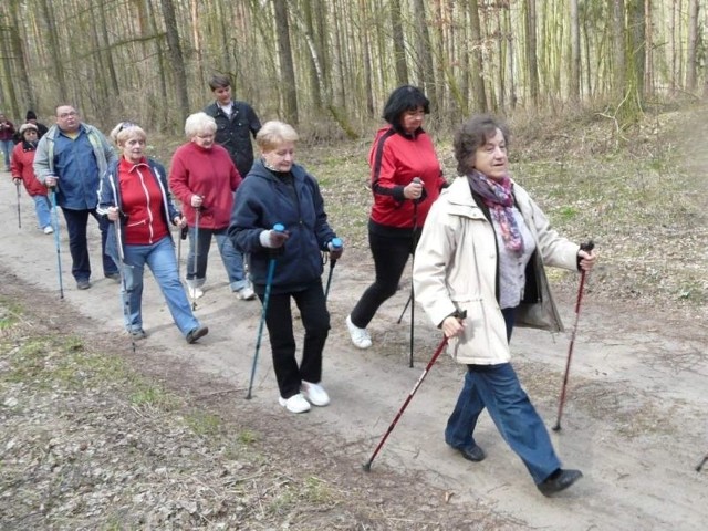
<svg viewBox="0 0 708 531">
<path fill-rule="evenodd" d="M 336 237 L 327 223 L 320 186 L 305 169 L 294 164 L 291 169 L 294 192 L 288 184 L 257 160 L 236 192 L 229 237 L 236 249 L 250 254 L 253 289 L 264 293 L 268 266 L 277 260 L 272 293 L 300 291 L 320 281 L 323 266 L 321 251 Z M 290 238 L 280 249 L 261 244 L 260 235 L 282 223 Z"/>
</svg>

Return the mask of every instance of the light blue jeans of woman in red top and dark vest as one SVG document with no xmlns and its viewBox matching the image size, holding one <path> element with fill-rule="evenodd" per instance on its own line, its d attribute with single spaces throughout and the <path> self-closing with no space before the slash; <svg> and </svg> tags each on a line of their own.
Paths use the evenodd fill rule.
<svg viewBox="0 0 708 531">
<path fill-rule="evenodd" d="M 150 246 L 125 246 L 123 275 L 129 298 L 126 302 L 125 292 L 122 289 L 121 300 L 126 329 L 133 331 L 143 329 L 143 272 L 145 264 L 150 268 L 175 324 L 181 334 L 187 336 L 190 331 L 199 326 L 199 321 L 191 313 L 187 294 L 179 281 L 175 246 L 169 236 Z"/>
</svg>

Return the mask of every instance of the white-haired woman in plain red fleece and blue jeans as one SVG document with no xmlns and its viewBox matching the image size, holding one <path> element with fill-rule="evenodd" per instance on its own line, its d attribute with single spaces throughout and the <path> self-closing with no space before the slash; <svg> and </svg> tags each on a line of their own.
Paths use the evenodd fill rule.
<svg viewBox="0 0 708 531">
<path fill-rule="evenodd" d="M 192 299 L 204 295 L 201 287 L 207 280 L 207 259 L 214 236 L 231 291 L 238 299 L 250 301 L 256 294 L 243 273 L 243 257 L 227 236 L 233 192 L 241 184 L 241 176 L 229 152 L 215 143 L 216 132 L 217 124 L 208 114 L 190 115 L 185 123 L 189 142 L 175 152 L 169 169 L 169 187 L 181 201 L 189 225 L 187 285 Z"/>
</svg>

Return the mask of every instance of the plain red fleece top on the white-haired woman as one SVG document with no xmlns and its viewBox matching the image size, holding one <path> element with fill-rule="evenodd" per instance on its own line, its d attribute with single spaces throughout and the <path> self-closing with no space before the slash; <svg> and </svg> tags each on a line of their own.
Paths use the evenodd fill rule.
<svg viewBox="0 0 708 531">
<path fill-rule="evenodd" d="M 223 147 L 215 144 L 210 149 L 189 142 L 175 152 L 169 168 L 169 188 L 180 200 L 187 223 L 195 226 L 191 196 L 204 198 L 199 227 L 225 229 L 231 219 L 233 192 L 241 176 Z"/>
</svg>

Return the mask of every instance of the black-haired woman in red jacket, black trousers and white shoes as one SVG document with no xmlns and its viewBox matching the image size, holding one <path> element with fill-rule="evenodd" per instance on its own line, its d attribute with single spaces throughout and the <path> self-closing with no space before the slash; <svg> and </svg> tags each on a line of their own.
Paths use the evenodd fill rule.
<svg viewBox="0 0 708 531">
<path fill-rule="evenodd" d="M 378 131 L 368 154 L 374 192 L 368 242 L 376 279 L 346 317 L 358 348 L 372 346 L 366 326 L 378 306 L 396 293 L 430 205 L 446 186 L 433 142 L 423 131 L 429 112 L 430 102 L 419 88 L 396 88 L 384 107 L 388 125 Z"/>
</svg>

